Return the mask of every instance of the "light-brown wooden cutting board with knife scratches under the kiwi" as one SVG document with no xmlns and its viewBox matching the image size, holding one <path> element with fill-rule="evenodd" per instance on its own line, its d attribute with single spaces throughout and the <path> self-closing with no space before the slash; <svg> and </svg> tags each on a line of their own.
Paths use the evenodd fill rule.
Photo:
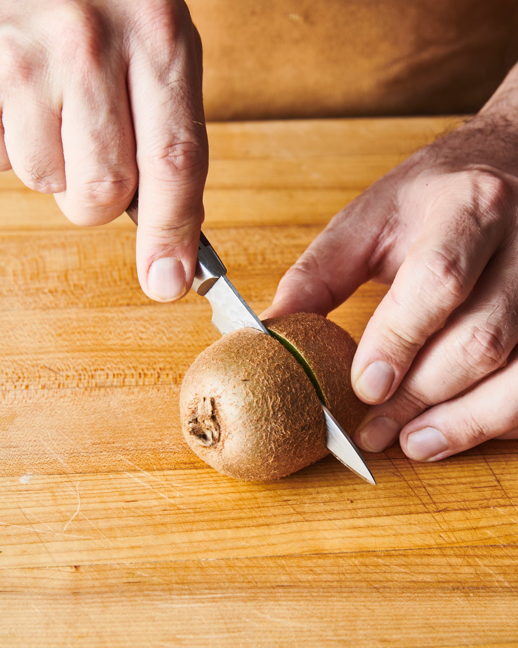
<svg viewBox="0 0 518 648">
<path fill-rule="evenodd" d="M 211 124 L 204 231 L 251 306 L 336 211 L 453 119 Z M 0 645 L 518 645 L 518 442 L 434 464 L 205 466 L 182 376 L 205 299 L 153 303 L 135 228 L 69 224 L 0 175 Z M 332 318 L 356 338 L 385 289 Z"/>
</svg>

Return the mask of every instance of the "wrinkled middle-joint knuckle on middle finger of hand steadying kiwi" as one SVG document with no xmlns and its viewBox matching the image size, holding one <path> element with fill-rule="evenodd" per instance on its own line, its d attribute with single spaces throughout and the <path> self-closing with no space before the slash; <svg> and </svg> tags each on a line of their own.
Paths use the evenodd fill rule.
<svg viewBox="0 0 518 648">
<path fill-rule="evenodd" d="M 498 369 L 505 357 L 505 335 L 499 325 L 487 322 L 465 329 L 460 339 L 462 360 L 477 375 L 486 376 Z"/>
</svg>

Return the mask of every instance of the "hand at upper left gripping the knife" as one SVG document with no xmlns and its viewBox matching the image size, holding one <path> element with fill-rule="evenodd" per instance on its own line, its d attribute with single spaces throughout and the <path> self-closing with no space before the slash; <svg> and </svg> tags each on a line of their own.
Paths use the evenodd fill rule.
<svg viewBox="0 0 518 648">
<path fill-rule="evenodd" d="M 201 40 L 183 0 L 3 0 L 0 170 L 78 225 L 139 184 L 137 272 L 152 299 L 190 288 L 208 145 Z"/>
</svg>

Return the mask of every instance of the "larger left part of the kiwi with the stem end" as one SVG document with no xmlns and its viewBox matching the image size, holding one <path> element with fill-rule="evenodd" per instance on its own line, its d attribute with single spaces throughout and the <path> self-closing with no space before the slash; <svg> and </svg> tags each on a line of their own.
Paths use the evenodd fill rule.
<svg viewBox="0 0 518 648">
<path fill-rule="evenodd" d="M 328 454 L 320 401 L 302 366 L 255 329 L 203 351 L 180 391 L 186 442 L 203 461 L 240 480 L 274 480 Z"/>
</svg>

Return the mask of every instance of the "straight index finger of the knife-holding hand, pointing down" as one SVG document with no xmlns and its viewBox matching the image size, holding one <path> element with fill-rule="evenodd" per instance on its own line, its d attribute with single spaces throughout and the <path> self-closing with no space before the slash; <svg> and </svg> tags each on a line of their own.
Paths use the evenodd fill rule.
<svg viewBox="0 0 518 648">
<path fill-rule="evenodd" d="M 188 9 L 169 3 L 150 21 L 142 18 L 132 42 L 128 89 L 139 168 L 137 273 L 148 297 L 174 301 L 192 283 L 203 222 L 208 143 L 201 51 Z"/>
</svg>

